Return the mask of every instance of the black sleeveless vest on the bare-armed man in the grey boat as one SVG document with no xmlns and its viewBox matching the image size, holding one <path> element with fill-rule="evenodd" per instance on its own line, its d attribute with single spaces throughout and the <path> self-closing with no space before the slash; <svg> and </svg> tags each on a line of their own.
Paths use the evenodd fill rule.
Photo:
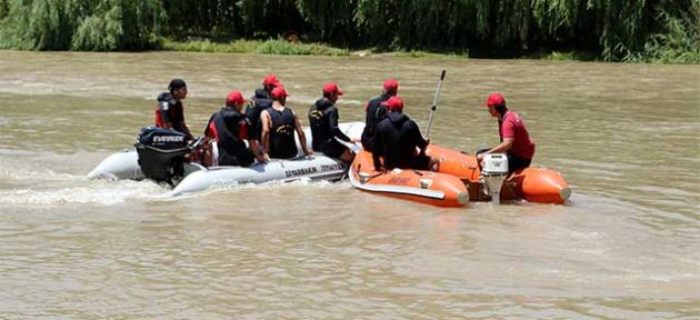
<svg viewBox="0 0 700 320">
<path fill-rule="evenodd" d="M 270 126 L 270 158 L 290 159 L 297 156 L 297 142 L 294 142 L 294 113 L 291 109 L 282 111 L 268 109 L 272 126 Z"/>
</svg>

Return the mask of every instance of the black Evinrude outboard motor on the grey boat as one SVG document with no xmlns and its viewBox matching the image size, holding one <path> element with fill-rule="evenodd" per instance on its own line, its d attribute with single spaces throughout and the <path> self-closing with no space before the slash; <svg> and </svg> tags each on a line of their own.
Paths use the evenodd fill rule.
<svg viewBox="0 0 700 320">
<path fill-rule="evenodd" d="M 154 127 L 141 129 L 134 144 L 146 178 L 174 186 L 184 176 L 184 156 L 191 152 L 184 133 Z"/>
</svg>

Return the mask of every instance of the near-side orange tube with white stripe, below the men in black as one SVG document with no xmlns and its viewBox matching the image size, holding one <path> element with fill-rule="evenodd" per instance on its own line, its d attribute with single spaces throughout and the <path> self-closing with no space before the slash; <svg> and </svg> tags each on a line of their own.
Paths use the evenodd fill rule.
<svg viewBox="0 0 700 320">
<path fill-rule="evenodd" d="M 360 151 L 348 173 L 353 187 L 389 197 L 396 197 L 439 207 L 463 207 L 469 202 L 469 191 L 452 174 L 394 169 L 374 171 L 372 153 Z"/>
</svg>

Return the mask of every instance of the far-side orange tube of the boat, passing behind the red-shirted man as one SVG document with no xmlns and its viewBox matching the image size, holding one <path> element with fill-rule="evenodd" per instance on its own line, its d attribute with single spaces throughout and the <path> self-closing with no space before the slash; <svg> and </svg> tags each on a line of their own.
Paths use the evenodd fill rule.
<svg viewBox="0 0 700 320">
<path fill-rule="evenodd" d="M 469 190 L 472 201 L 488 201 L 476 156 L 430 144 L 426 153 L 440 161 L 441 173 L 459 178 Z M 500 200 L 524 199 L 539 203 L 566 203 L 571 197 L 569 183 L 561 173 L 544 168 L 526 168 L 513 172 L 503 183 Z"/>
</svg>

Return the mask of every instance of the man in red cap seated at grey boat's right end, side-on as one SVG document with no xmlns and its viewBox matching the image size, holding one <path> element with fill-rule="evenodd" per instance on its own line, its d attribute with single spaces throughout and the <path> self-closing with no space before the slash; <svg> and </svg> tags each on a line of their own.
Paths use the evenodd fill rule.
<svg viewBox="0 0 700 320">
<path fill-rule="evenodd" d="M 338 89 L 338 84 L 328 82 L 323 87 L 323 98 L 319 99 L 309 109 L 309 124 L 311 127 L 311 144 L 313 151 L 323 152 L 323 154 L 340 159 L 346 163 L 351 163 L 354 153 L 336 139 L 346 142 L 358 142 L 342 133 L 338 128 L 338 108 L 336 101 L 342 96 L 342 91 Z"/>
</svg>

